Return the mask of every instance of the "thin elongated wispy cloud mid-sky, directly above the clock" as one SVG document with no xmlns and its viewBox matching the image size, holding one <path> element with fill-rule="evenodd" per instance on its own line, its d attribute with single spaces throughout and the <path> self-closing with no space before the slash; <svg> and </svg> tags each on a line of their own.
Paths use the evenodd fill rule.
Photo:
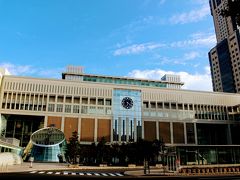
<svg viewBox="0 0 240 180">
<path fill-rule="evenodd" d="M 143 43 L 143 44 L 133 44 L 131 46 L 116 49 L 113 53 L 114 56 L 129 55 L 129 54 L 139 54 L 146 51 L 151 51 L 160 47 L 164 47 L 161 43 Z"/>
</svg>

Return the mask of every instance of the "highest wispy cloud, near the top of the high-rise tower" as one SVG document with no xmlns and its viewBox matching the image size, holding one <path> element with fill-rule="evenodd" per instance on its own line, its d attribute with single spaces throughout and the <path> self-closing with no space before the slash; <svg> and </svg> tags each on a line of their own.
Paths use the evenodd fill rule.
<svg viewBox="0 0 240 180">
<path fill-rule="evenodd" d="M 172 24 L 186 24 L 198 22 L 208 15 L 210 15 L 210 8 L 209 5 L 204 2 L 199 9 L 194 9 L 189 12 L 175 14 L 169 19 L 169 21 Z"/>
</svg>

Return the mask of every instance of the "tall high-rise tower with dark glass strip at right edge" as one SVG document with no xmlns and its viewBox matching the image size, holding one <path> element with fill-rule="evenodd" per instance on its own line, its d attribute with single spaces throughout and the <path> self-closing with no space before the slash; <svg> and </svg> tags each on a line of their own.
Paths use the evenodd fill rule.
<svg viewBox="0 0 240 180">
<path fill-rule="evenodd" d="M 228 0 L 209 0 L 217 45 L 210 50 L 213 90 L 240 93 L 240 36 L 236 19 L 222 16 Z"/>
</svg>

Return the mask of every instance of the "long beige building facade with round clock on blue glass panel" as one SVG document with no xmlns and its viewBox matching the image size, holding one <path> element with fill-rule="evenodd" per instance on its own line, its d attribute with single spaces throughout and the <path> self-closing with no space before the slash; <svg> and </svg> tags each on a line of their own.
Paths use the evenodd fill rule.
<svg viewBox="0 0 240 180">
<path fill-rule="evenodd" d="M 65 79 L 3 76 L 0 121 L 6 122 L 5 137 L 17 138 L 25 147 L 33 132 L 54 125 L 66 140 L 76 130 L 81 144 L 102 137 L 109 143 L 159 139 L 175 148 L 174 158 L 182 164 L 240 163 L 239 94 L 169 89 L 163 81 L 63 74 Z"/>
</svg>

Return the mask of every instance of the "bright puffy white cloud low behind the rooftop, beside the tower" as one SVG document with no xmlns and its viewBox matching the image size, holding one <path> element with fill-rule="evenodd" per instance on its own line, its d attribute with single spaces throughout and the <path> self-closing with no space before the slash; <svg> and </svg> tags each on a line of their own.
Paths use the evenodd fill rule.
<svg viewBox="0 0 240 180">
<path fill-rule="evenodd" d="M 184 82 L 183 89 L 212 91 L 212 81 L 209 67 L 205 67 L 205 72 L 203 72 L 202 74 L 199 73 L 190 74 L 184 71 L 173 72 L 165 71 L 162 69 L 154 69 L 154 70 L 133 70 L 128 74 L 128 76 L 142 79 L 161 80 L 161 77 L 165 74 L 180 75 L 181 81 Z"/>
</svg>

